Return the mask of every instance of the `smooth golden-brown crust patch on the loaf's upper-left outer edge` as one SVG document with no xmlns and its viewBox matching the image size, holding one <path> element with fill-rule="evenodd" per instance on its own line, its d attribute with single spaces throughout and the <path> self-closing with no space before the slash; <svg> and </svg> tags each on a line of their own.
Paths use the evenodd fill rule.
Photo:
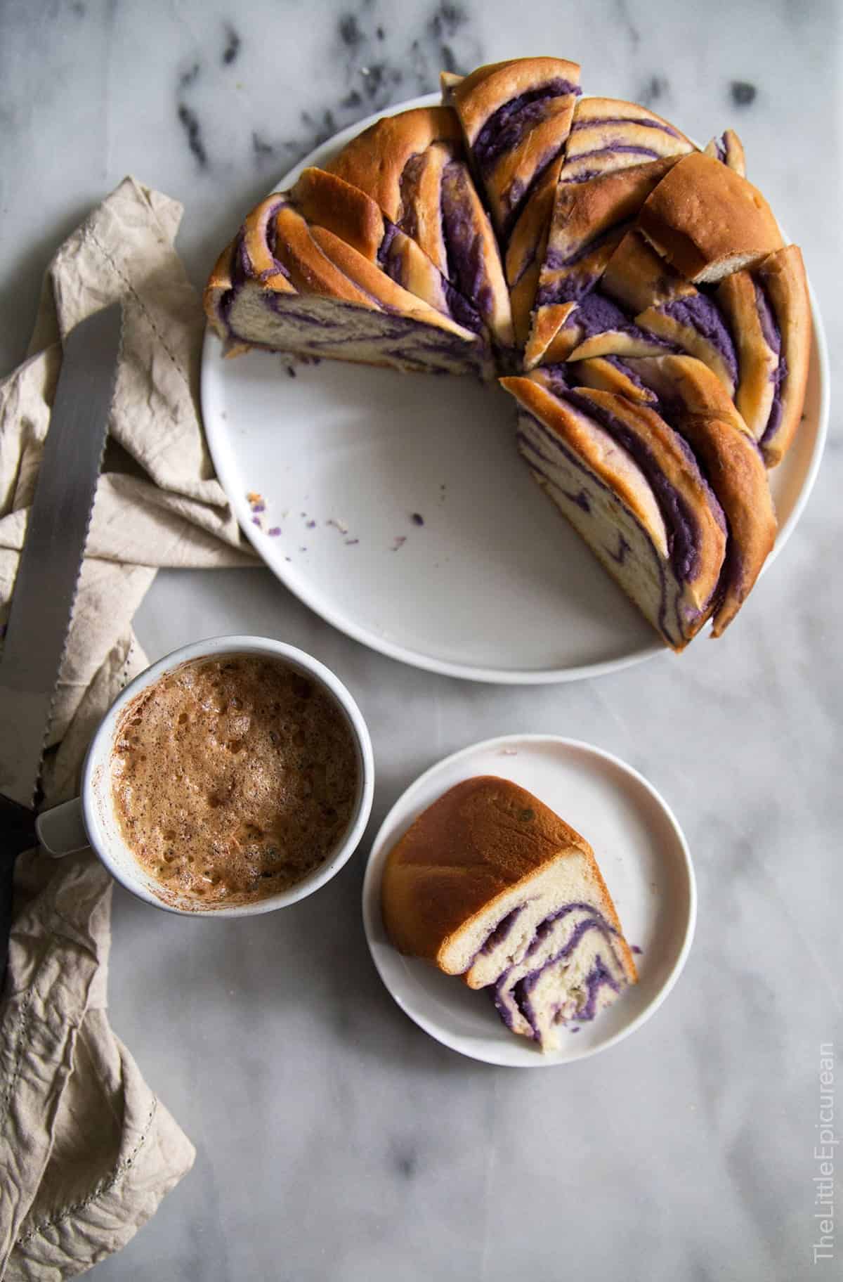
<svg viewBox="0 0 843 1282">
<path fill-rule="evenodd" d="M 418 106 L 375 121 L 347 142 L 325 169 L 359 187 L 391 222 L 398 223 L 401 176 L 407 160 L 434 142 L 448 144 L 459 154 L 461 141 L 460 122 L 450 106 Z"/>
</svg>

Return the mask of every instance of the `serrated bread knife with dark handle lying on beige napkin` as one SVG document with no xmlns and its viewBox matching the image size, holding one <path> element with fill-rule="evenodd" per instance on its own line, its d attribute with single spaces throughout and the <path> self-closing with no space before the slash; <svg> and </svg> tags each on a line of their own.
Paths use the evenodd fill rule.
<svg viewBox="0 0 843 1282">
<path fill-rule="evenodd" d="M 102 462 L 120 331 L 120 304 L 113 303 L 64 340 L 0 656 L 0 979 L 14 859 L 36 845 L 41 759 Z"/>
</svg>

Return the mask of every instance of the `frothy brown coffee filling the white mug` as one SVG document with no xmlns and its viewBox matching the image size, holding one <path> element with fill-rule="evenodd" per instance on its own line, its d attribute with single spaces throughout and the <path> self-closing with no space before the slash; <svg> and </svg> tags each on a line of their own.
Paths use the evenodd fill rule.
<svg viewBox="0 0 843 1282">
<path fill-rule="evenodd" d="M 337 849 L 359 791 L 347 719 L 283 660 L 233 654 L 167 673 L 124 710 L 110 762 L 123 840 L 204 906 L 288 890 Z"/>
</svg>

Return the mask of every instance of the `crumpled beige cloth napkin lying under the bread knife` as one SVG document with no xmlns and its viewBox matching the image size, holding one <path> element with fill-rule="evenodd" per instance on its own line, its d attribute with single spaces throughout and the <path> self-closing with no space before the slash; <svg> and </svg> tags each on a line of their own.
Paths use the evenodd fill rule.
<svg viewBox="0 0 843 1282">
<path fill-rule="evenodd" d="M 199 418 L 204 331 L 173 247 L 182 206 L 126 178 L 46 273 L 27 360 L 0 383 L 0 624 L 37 478 L 64 336 L 123 304 L 123 350 L 44 769 L 73 796 L 97 720 L 147 660 L 132 617 L 159 565 L 249 565 Z M 0 755 L 14 753 L 14 736 Z M 0 841 L 3 835 L 0 833 Z M 111 882 L 86 853 L 18 859 L 0 1006 L 0 1278 L 85 1272 L 124 1245 L 193 1149 L 105 1013 Z"/>
</svg>

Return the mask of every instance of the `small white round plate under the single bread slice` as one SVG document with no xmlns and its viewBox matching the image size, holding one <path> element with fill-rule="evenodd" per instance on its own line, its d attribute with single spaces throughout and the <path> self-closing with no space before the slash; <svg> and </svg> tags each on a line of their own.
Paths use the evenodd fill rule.
<svg viewBox="0 0 843 1282">
<path fill-rule="evenodd" d="M 562 1031 L 560 1050 L 542 1054 L 503 1027 L 484 992 L 442 974 L 389 944 L 381 917 L 386 858 L 414 819 L 455 783 L 497 774 L 528 788 L 592 845 L 635 956 L 638 983 L 591 1024 Z M 682 970 L 697 915 L 688 845 L 669 805 L 630 765 L 610 753 L 555 735 L 506 735 L 455 753 L 396 801 L 374 840 L 363 883 L 363 922 L 387 988 L 420 1028 L 452 1050 L 519 1068 L 547 1068 L 606 1050 L 641 1028 Z"/>
</svg>

